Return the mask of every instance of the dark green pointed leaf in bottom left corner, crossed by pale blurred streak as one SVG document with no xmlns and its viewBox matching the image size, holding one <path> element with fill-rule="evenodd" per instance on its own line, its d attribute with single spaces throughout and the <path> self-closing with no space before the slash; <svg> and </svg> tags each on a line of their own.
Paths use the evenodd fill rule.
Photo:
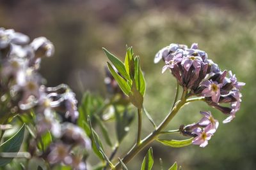
<svg viewBox="0 0 256 170">
<path fill-rule="evenodd" d="M 19 152 L 20 146 L 22 144 L 25 132 L 25 124 L 20 127 L 19 131 L 12 136 L 12 138 L 5 141 L 0 146 L 0 153 L 1 152 Z M 9 164 L 13 158 L 3 158 L 0 157 L 0 167 Z"/>
</svg>

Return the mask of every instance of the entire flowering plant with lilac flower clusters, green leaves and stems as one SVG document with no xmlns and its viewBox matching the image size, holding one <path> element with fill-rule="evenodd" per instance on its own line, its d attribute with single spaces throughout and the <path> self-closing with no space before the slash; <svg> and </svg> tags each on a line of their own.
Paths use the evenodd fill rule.
<svg viewBox="0 0 256 170">
<path fill-rule="evenodd" d="M 206 52 L 198 49 L 196 43 L 190 48 L 171 44 L 157 52 L 154 62 L 164 61 L 163 72 L 168 69 L 176 78 L 177 91 L 170 112 L 161 124 L 156 125 L 143 105 L 146 82 L 140 57 L 134 55 L 131 47 L 127 47 L 125 61 L 122 62 L 105 48 L 103 50 L 110 60 L 104 80 L 109 96 L 103 99 L 87 92 L 77 108 L 76 96 L 67 85 L 46 87 L 44 78 L 38 73 L 40 61 L 54 53 L 51 41 L 40 37 L 30 42 L 24 34 L 0 28 L 1 167 L 127 169 L 126 164 L 152 141 L 176 148 L 191 144 L 200 147 L 208 145 L 219 125 L 211 111 L 200 111 L 203 117 L 198 122 L 182 124 L 178 129 L 166 131 L 166 126 L 185 104 L 193 101 L 207 103 L 227 115 L 224 124 L 231 122 L 239 111 L 240 90 L 245 83 L 237 81 L 231 71 L 221 71 L 217 64 L 208 59 Z M 135 117 L 131 104 L 138 115 L 136 143 L 120 158 L 116 153 Z M 154 131 L 141 139 L 143 113 Z M 113 120 L 117 137 L 115 145 L 105 125 L 106 121 Z M 102 138 L 95 131 L 96 127 L 99 127 Z M 7 131 L 15 133 L 8 136 Z M 163 134 L 173 133 L 187 139 L 161 138 Z M 103 139 L 112 150 L 109 155 Z M 97 166 L 87 161 L 91 150 L 99 157 Z M 153 163 L 153 150 L 150 148 L 141 169 L 152 169 Z M 170 169 L 178 169 L 177 163 Z"/>
</svg>

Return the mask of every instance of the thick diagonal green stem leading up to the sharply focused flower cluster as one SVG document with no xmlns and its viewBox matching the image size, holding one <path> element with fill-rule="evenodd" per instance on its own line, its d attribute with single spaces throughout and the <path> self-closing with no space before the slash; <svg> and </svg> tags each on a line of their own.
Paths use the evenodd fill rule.
<svg viewBox="0 0 256 170">
<path fill-rule="evenodd" d="M 157 136 L 161 133 L 161 131 L 169 124 L 169 122 L 172 120 L 172 118 L 177 114 L 177 112 L 184 106 L 186 103 L 186 94 L 187 90 L 184 89 L 182 97 L 179 101 L 175 104 L 173 109 L 170 111 L 170 113 L 167 115 L 166 118 L 164 118 L 163 122 L 157 127 L 157 129 L 150 133 L 145 139 L 143 139 L 140 143 L 140 145 L 134 145 L 131 150 L 125 155 L 125 157 L 122 159 L 122 162 L 124 164 L 127 164 L 133 157 L 135 157 L 145 146 L 147 146 L 149 143 L 154 141 Z M 115 166 L 116 169 L 121 169 L 121 164 L 118 163 Z"/>
</svg>

